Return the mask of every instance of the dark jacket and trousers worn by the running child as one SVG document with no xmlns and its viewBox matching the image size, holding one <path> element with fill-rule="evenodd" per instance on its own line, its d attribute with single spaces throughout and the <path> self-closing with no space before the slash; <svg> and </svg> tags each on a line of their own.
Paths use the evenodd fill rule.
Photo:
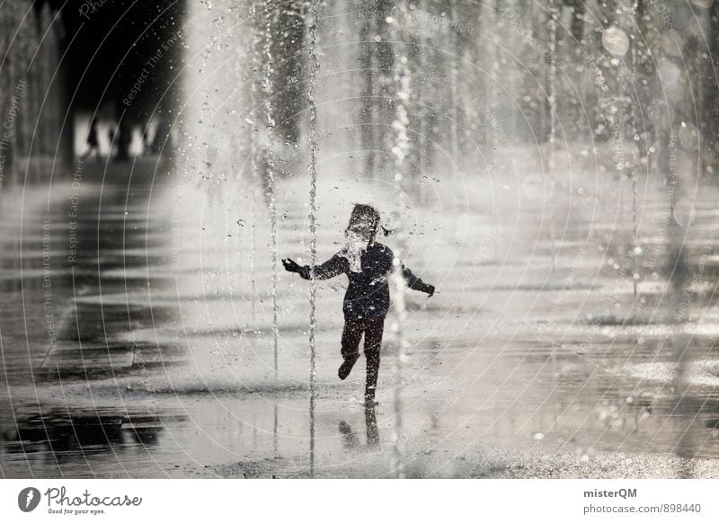
<svg viewBox="0 0 719 523">
<path fill-rule="evenodd" d="M 367 388 L 365 397 L 374 400 L 379 371 L 379 351 L 385 328 L 385 316 L 389 310 L 388 276 L 392 271 L 395 255 L 383 244 L 369 244 L 361 254 L 361 271 L 351 270 L 344 251 L 335 254 L 327 262 L 315 266 L 315 279 L 330 279 L 347 274 L 350 285 L 344 295 L 344 330 L 342 332 L 342 358 L 353 364 L 359 358 L 359 342 L 365 337 L 367 358 Z M 299 267 L 298 274 L 310 279 L 309 266 Z M 402 267 L 407 286 L 422 292 L 434 288 L 416 277 L 411 270 Z M 349 371 L 348 371 L 349 372 Z"/>
</svg>

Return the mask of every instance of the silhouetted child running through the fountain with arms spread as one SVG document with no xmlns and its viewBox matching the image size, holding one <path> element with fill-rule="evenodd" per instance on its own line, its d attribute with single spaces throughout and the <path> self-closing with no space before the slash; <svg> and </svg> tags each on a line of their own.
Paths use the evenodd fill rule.
<svg viewBox="0 0 719 523">
<path fill-rule="evenodd" d="M 327 262 L 315 266 L 315 279 L 330 279 L 347 274 L 350 285 L 344 295 L 344 329 L 342 331 L 342 359 L 337 375 L 350 376 L 359 359 L 359 342 L 365 337 L 367 358 L 367 384 L 365 404 L 374 405 L 379 372 L 379 350 L 385 330 L 385 317 L 389 310 L 388 275 L 392 271 L 394 254 L 386 245 L 375 242 L 379 229 L 379 213 L 368 205 L 358 204 L 352 209 L 350 225 L 345 230 L 347 244 Z M 386 231 L 385 231 L 386 233 Z M 301 266 L 291 259 L 282 260 L 289 272 L 297 272 L 310 279 L 310 267 Z M 432 296 L 434 286 L 424 283 L 411 270 L 402 266 L 407 287 Z"/>
</svg>

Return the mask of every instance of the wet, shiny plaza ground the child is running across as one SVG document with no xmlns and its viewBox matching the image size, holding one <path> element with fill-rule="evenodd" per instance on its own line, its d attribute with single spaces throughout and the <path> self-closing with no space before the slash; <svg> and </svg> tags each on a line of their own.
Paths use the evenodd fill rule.
<svg viewBox="0 0 719 523">
<path fill-rule="evenodd" d="M 308 475 L 306 286 L 280 275 L 275 379 L 262 209 L 253 220 L 245 199 L 242 219 L 222 217 L 213 214 L 222 212 L 217 195 L 205 195 L 198 217 L 191 203 L 178 212 L 172 188 L 133 180 L 129 190 L 84 185 L 76 244 L 60 190 L 49 210 L 40 201 L 4 220 L 10 232 L 22 221 L 22 240 L 4 234 L 0 257 L 0 472 Z M 291 198 L 280 222 L 288 253 L 301 251 L 293 235 L 305 228 L 301 200 Z M 710 205 L 708 195 L 697 202 L 697 216 Z M 484 218 L 471 235 L 493 234 Z M 593 224 L 588 239 L 577 222 L 554 246 L 544 230 L 528 252 L 504 245 L 510 262 L 497 255 L 502 245 L 476 256 L 446 232 L 416 237 L 417 252 L 431 254 L 413 268 L 441 290 L 408 297 L 398 435 L 407 475 L 719 474 L 717 239 L 701 220 L 688 235 L 690 258 L 711 255 L 677 322 L 663 251 L 638 261 L 635 299 L 620 275 L 627 224 Z M 322 255 L 335 233 L 321 227 Z M 644 249 L 653 244 L 661 239 L 647 234 Z M 319 288 L 315 471 L 392 476 L 392 344 L 383 347 L 380 403 L 366 409 L 361 370 L 336 379 L 342 288 Z"/>
</svg>

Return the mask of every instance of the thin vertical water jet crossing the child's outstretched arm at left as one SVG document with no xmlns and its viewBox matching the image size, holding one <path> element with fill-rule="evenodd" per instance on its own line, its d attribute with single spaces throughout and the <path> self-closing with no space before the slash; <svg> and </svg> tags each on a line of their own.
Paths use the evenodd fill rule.
<svg viewBox="0 0 719 523">
<path fill-rule="evenodd" d="M 316 369 L 316 349 L 315 349 L 315 333 L 317 330 L 316 314 L 316 295 L 317 285 L 315 280 L 315 264 L 317 262 L 317 106 L 315 103 L 315 90 L 317 86 L 317 72 L 319 71 L 319 59 L 316 54 L 317 45 L 317 0 L 312 0 L 309 4 L 309 47 L 307 55 L 310 62 L 309 68 L 309 87 L 307 90 L 307 102 L 309 105 L 309 173 L 310 173 L 310 189 L 309 189 L 309 232 L 311 235 L 309 244 L 310 259 L 310 282 L 309 282 L 309 412 L 310 412 L 310 475 L 315 476 L 315 379 L 317 376 Z"/>
</svg>

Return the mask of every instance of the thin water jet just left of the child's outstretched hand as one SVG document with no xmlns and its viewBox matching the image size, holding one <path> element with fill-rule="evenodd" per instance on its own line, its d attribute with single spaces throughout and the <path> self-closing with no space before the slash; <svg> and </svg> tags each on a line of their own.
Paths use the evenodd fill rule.
<svg viewBox="0 0 719 523">
<path fill-rule="evenodd" d="M 274 173 L 274 152 L 272 148 L 274 146 L 274 127 L 275 120 L 272 110 L 272 96 L 274 94 L 274 85 L 272 83 L 272 12 L 269 0 L 262 2 L 262 10 L 264 11 L 264 115 L 267 120 L 267 199 L 268 207 L 270 209 L 270 236 L 271 236 L 271 251 L 272 251 L 272 348 L 274 357 L 274 371 L 275 379 L 278 377 L 278 327 L 277 327 L 277 260 L 278 260 L 278 247 L 277 247 L 277 206 L 275 202 L 276 191 L 275 191 L 275 173 Z"/>
</svg>

